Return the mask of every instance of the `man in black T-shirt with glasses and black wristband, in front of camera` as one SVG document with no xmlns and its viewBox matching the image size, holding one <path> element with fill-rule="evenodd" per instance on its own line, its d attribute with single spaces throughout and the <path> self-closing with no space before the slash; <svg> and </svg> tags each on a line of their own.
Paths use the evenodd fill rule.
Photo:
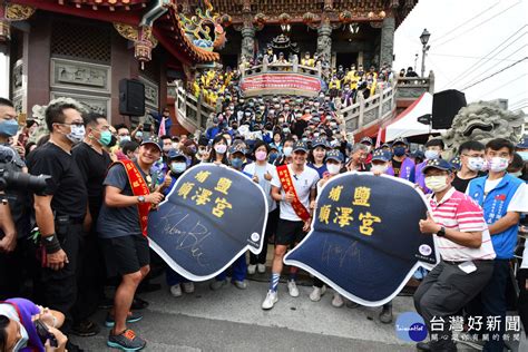
<svg viewBox="0 0 528 352">
<path fill-rule="evenodd" d="M 28 157 L 32 175 L 50 175 L 47 189 L 35 195 L 35 216 L 42 254 L 43 304 L 66 315 L 62 331 L 71 327 L 71 309 L 77 299 L 76 272 L 82 242 L 82 223 L 88 195 L 82 174 L 71 156 L 74 144 L 82 140 L 85 126 L 74 104 L 55 102 L 46 109 L 49 141 Z M 69 351 L 76 350 L 68 346 Z"/>
</svg>

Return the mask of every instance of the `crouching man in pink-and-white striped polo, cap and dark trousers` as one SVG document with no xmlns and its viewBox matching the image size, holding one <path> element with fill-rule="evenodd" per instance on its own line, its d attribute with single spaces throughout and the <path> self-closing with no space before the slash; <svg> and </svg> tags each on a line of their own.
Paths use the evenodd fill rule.
<svg viewBox="0 0 528 352">
<path fill-rule="evenodd" d="M 496 256 L 483 213 L 469 196 L 451 186 L 451 165 L 430 159 L 422 169 L 432 214 L 420 221 L 423 234 L 434 234 L 442 261 L 426 276 L 414 293 L 414 306 L 437 334 L 419 350 L 457 351 L 449 317 L 454 315 L 488 283 Z M 436 329 L 431 329 L 432 323 Z M 476 333 L 476 332 L 473 332 Z"/>
</svg>

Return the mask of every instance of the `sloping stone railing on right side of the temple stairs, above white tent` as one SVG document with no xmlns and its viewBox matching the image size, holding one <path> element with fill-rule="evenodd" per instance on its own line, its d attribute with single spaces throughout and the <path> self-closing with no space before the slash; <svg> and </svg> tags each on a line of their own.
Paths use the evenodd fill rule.
<svg viewBox="0 0 528 352">
<path fill-rule="evenodd" d="M 395 90 L 392 87 L 378 89 L 369 97 L 358 95 L 355 104 L 348 107 L 341 107 L 339 115 L 342 117 L 348 133 L 355 133 L 363 128 L 375 125 L 380 120 L 388 120 L 393 117 L 395 111 Z"/>
</svg>

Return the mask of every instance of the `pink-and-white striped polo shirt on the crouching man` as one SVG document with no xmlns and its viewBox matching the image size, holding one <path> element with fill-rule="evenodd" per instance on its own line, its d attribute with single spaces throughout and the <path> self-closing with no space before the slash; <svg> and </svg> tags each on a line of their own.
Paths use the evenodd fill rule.
<svg viewBox="0 0 528 352">
<path fill-rule="evenodd" d="M 437 224 L 459 232 L 482 232 L 482 244 L 479 248 L 469 248 L 446 237 L 436 236 L 442 260 L 466 262 L 495 258 L 493 245 L 482 208 L 469 196 L 451 187 L 439 203 L 433 195 L 429 195 L 429 203 Z"/>
</svg>

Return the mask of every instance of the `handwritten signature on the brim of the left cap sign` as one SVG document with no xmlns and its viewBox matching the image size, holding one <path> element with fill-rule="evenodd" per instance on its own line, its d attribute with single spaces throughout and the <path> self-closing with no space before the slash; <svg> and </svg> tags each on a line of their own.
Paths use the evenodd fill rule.
<svg viewBox="0 0 528 352">
<path fill-rule="evenodd" d="M 199 219 L 190 226 L 189 231 L 182 231 L 182 225 L 186 221 L 192 221 L 189 215 L 177 211 L 176 206 L 174 206 L 166 215 L 159 218 L 156 227 L 160 226 L 164 234 L 176 236 L 176 251 L 186 252 L 199 266 L 207 267 L 209 264 L 207 263 L 203 245 L 211 236 L 211 232 Z M 185 228 L 189 228 L 189 226 L 185 226 Z"/>
</svg>

